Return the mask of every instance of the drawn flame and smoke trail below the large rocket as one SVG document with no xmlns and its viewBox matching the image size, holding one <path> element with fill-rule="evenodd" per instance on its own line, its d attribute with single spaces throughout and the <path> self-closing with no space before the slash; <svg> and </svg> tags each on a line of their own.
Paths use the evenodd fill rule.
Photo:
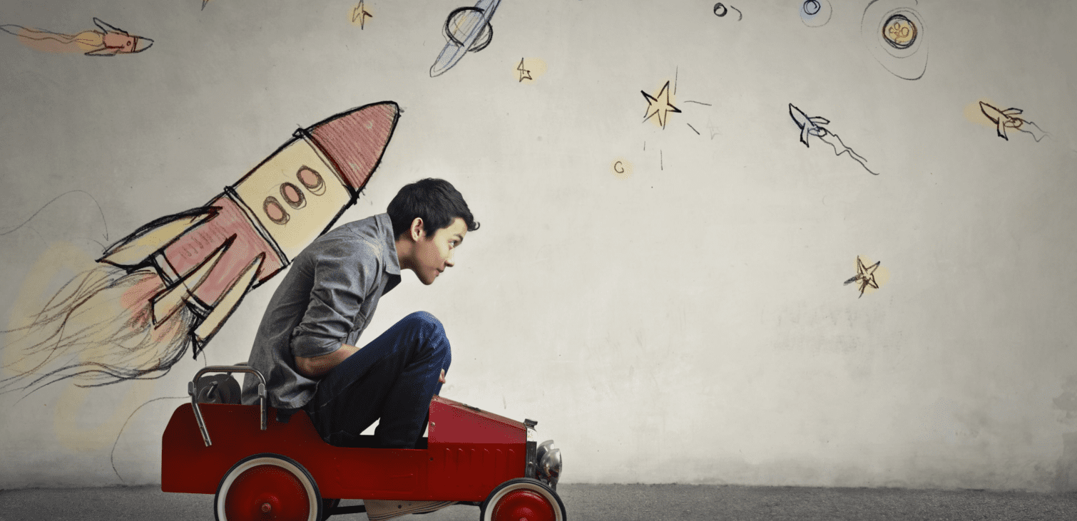
<svg viewBox="0 0 1077 521">
<path fill-rule="evenodd" d="M 152 269 L 112 266 L 83 271 L 25 324 L 3 330 L 5 363 L 0 394 L 71 379 L 92 388 L 166 375 L 191 344 L 195 322 L 186 308 L 154 325 L 151 297 L 164 287 Z"/>
</svg>

